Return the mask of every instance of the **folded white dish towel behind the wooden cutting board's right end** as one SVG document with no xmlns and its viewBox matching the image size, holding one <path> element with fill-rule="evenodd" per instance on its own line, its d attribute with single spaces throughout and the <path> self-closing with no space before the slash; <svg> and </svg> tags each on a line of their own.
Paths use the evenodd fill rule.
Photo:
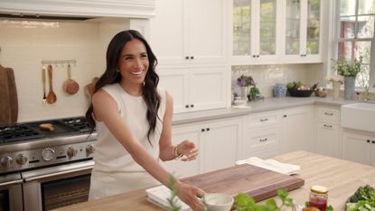
<svg viewBox="0 0 375 211">
<path fill-rule="evenodd" d="M 295 175 L 301 172 L 301 167 L 298 165 L 278 162 L 275 159 L 262 159 L 258 157 L 250 157 L 236 161 L 236 165 L 250 164 L 259 168 L 266 168 L 268 170 L 276 171 L 281 174 Z"/>
</svg>

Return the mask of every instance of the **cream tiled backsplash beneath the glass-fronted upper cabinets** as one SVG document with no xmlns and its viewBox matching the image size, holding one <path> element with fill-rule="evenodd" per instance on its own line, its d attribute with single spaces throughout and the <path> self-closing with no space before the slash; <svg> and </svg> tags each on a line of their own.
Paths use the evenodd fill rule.
<svg viewBox="0 0 375 211">
<path fill-rule="evenodd" d="M 323 63 L 232 66 L 232 93 L 239 94 L 237 79 L 242 74 L 252 76 L 261 95 L 266 98 L 273 97 L 273 88 L 276 83 L 286 84 L 287 82 L 301 81 L 306 85 L 313 85 L 315 82 L 324 85 L 321 82 Z"/>
</svg>

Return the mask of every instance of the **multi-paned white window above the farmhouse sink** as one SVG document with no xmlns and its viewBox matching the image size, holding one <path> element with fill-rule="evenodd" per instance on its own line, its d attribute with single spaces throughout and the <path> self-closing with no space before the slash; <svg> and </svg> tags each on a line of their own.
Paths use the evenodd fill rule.
<svg viewBox="0 0 375 211">
<path fill-rule="evenodd" d="M 336 34 L 333 41 L 336 58 L 362 58 L 356 87 L 375 85 L 374 17 L 375 0 L 336 0 Z M 371 53 L 374 55 L 371 56 Z"/>
</svg>

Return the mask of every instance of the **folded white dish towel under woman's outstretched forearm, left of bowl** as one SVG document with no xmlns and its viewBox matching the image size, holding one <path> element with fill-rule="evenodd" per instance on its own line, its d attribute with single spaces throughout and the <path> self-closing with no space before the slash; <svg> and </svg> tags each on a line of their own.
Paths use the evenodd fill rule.
<svg viewBox="0 0 375 211">
<path fill-rule="evenodd" d="M 145 190 L 145 193 L 147 194 L 147 201 L 155 204 L 156 206 L 160 206 L 165 210 L 169 210 L 168 198 L 171 197 L 172 192 L 168 187 L 158 186 L 148 188 Z M 180 200 L 178 197 L 175 197 L 174 204 L 177 206 L 181 206 L 181 211 L 192 211 L 192 209 L 185 203 L 183 203 L 183 201 Z"/>
</svg>

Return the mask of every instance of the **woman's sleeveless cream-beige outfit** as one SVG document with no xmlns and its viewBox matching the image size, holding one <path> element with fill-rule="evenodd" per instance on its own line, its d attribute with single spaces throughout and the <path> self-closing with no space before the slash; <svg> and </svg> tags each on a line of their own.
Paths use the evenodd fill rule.
<svg viewBox="0 0 375 211">
<path fill-rule="evenodd" d="M 165 113 L 165 91 L 158 89 L 161 96 L 155 133 L 150 136 L 152 146 L 147 139 L 148 121 L 147 106 L 142 96 L 129 95 L 119 83 L 102 88 L 117 102 L 118 112 L 145 147 L 145 150 L 155 159 L 159 159 L 159 139 L 163 130 Z M 89 200 L 117 195 L 131 190 L 152 187 L 160 183 L 144 168 L 136 163 L 122 144 L 112 135 L 103 122 L 97 121 L 98 140 L 95 143 L 95 166 L 91 173 Z"/>
</svg>

